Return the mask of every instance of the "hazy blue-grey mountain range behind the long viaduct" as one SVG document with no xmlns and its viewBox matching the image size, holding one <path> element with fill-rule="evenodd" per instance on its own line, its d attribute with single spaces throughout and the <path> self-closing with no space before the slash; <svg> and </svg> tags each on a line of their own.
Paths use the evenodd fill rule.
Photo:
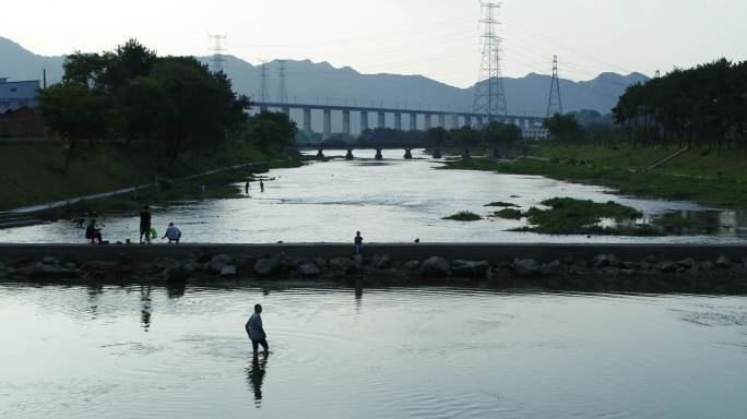
<svg viewBox="0 0 747 419">
<path fill-rule="evenodd" d="M 208 63 L 209 57 L 200 57 Z M 13 80 L 42 79 L 47 70 L 47 82 L 62 77 L 64 57 L 37 56 L 19 44 L 0 37 L 0 77 Z M 268 65 L 270 99 L 278 97 L 277 60 Z M 225 69 L 238 93 L 257 99 L 260 92 L 260 65 L 227 56 Z M 384 105 L 387 107 L 470 109 L 474 86 L 460 88 L 422 76 L 401 74 L 361 74 L 349 67 L 336 69 L 328 62 L 309 60 L 286 61 L 286 87 L 289 101 L 330 103 L 348 105 Z M 560 80 L 564 111 L 593 109 L 607 113 L 630 84 L 644 82 L 641 73 L 621 75 L 602 73 L 594 80 L 573 82 Z M 523 77 L 503 80 L 509 113 L 544 116 L 547 108 L 550 76 L 531 73 Z M 318 125 L 317 116 L 315 124 Z M 339 124 L 339 121 L 335 121 Z M 317 128 L 315 127 L 315 129 Z"/>
</svg>

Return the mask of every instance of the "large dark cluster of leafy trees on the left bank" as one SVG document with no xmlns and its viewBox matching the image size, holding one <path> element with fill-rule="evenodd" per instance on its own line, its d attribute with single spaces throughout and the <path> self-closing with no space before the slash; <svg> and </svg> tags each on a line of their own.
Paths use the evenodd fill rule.
<svg viewBox="0 0 747 419">
<path fill-rule="evenodd" d="M 114 51 L 66 58 L 62 82 L 38 92 L 38 111 L 66 140 L 69 161 L 83 144 L 121 141 L 173 164 L 183 151 L 229 140 L 293 144 L 296 124 L 282 113 L 248 117 L 250 100 L 193 57 L 158 57 L 135 39 Z"/>
</svg>

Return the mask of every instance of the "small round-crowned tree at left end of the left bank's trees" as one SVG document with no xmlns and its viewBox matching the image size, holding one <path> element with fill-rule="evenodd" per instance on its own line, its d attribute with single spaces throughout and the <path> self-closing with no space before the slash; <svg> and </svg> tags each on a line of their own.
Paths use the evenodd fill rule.
<svg viewBox="0 0 747 419">
<path fill-rule="evenodd" d="M 38 92 L 38 110 L 47 127 L 68 142 L 66 168 L 80 141 L 105 136 L 106 97 L 80 84 L 57 84 Z"/>
</svg>

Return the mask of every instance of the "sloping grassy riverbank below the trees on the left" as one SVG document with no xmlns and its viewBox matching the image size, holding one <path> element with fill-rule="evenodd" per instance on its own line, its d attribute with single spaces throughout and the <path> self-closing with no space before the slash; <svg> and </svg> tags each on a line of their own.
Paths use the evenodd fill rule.
<svg viewBox="0 0 747 419">
<path fill-rule="evenodd" d="M 0 211 L 66 200 L 86 194 L 156 182 L 156 188 L 137 195 L 84 203 L 95 211 L 129 210 L 141 202 L 157 203 L 236 194 L 232 182 L 250 172 L 272 167 L 295 167 L 299 156 L 286 152 L 260 149 L 246 143 L 233 143 L 220 151 L 185 153 L 168 166 L 147 149 L 126 147 L 122 143 L 95 144 L 82 151 L 66 168 L 63 145 L 59 142 L 0 142 Z M 272 163 L 282 160 L 283 163 Z M 251 169 L 232 170 L 192 180 L 174 180 L 212 169 L 254 163 Z"/>
</svg>

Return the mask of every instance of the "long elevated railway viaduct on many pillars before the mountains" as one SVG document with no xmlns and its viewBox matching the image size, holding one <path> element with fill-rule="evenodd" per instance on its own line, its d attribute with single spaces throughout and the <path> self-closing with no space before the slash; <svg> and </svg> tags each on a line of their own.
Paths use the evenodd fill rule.
<svg viewBox="0 0 747 419">
<path fill-rule="evenodd" d="M 402 130 L 402 116 L 406 115 L 410 118 L 407 129 L 410 131 L 418 130 L 418 117 L 423 116 L 424 125 L 422 129 L 429 130 L 435 127 L 442 127 L 446 129 L 461 128 L 461 127 L 482 127 L 488 122 L 489 118 L 484 113 L 473 113 L 454 110 L 429 110 L 429 109 L 401 109 L 401 108 L 376 108 L 364 106 L 340 106 L 340 105 L 310 105 L 310 104 L 280 104 L 280 103 L 252 103 L 253 106 L 260 109 L 278 109 L 287 115 L 290 115 L 290 109 L 299 109 L 304 111 L 303 131 L 307 136 L 311 136 L 311 111 L 320 110 L 324 113 L 324 130 L 322 131 L 322 140 L 332 136 L 332 112 L 342 112 L 343 117 L 343 135 L 351 135 L 351 112 L 360 113 L 360 131 L 369 128 L 387 128 L 387 115 L 394 116 L 394 129 Z M 369 115 L 377 116 L 377 124 L 371 127 L 369 124 Z M 437 120 L 434 120 L 434 119 Z M 513 123 L 522 129 L 537 128 L 542 125 L 545 118 L 537 117 L 494 117 L 493 120 L 498 122 Z"/>
</svg>

